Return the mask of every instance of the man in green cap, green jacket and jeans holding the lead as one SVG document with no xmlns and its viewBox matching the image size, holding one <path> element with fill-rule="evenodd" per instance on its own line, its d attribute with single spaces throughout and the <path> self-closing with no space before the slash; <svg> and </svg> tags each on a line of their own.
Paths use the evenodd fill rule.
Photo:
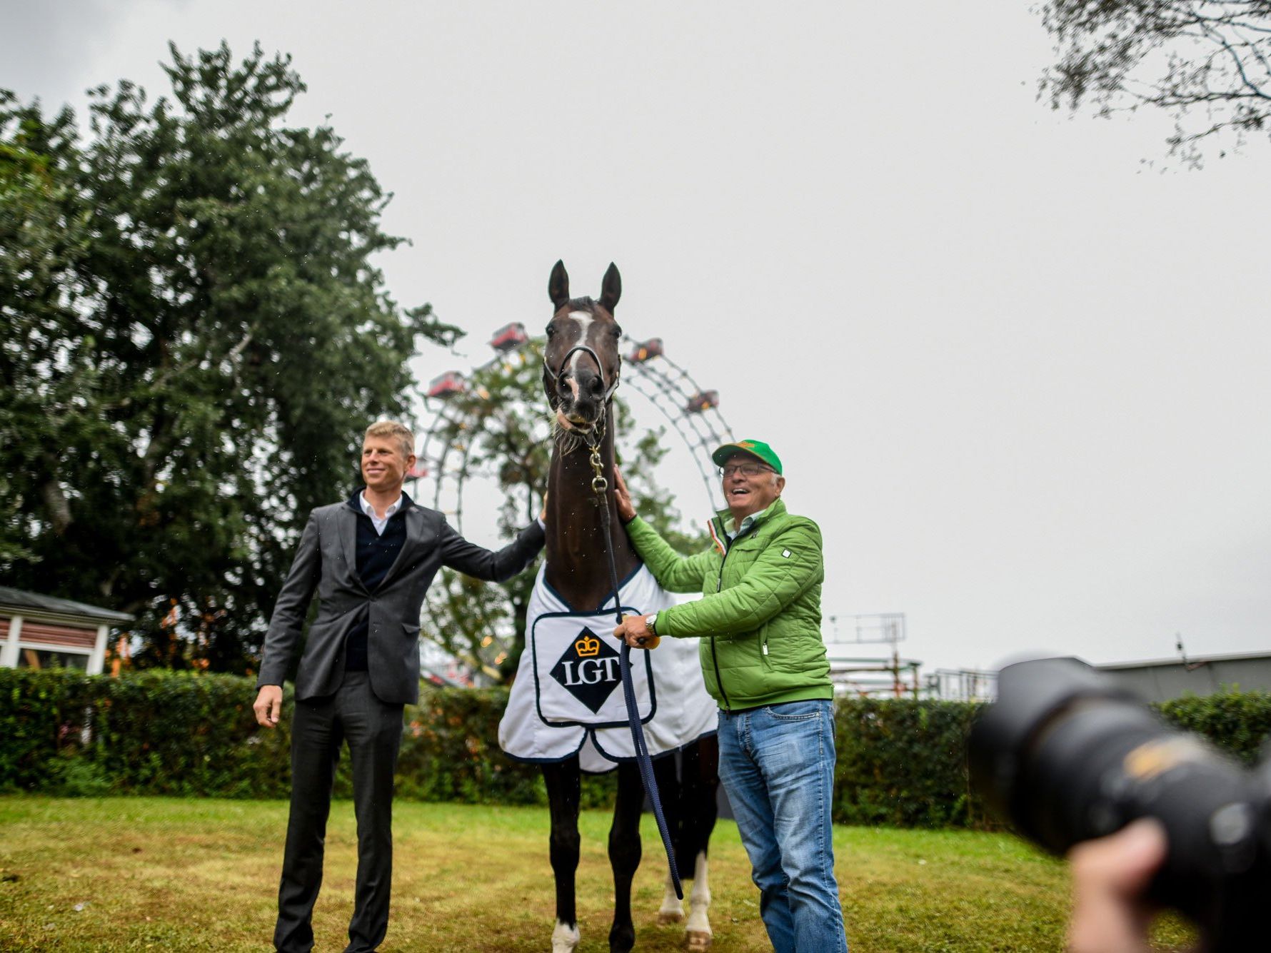
<svg viewBox="0 0 1271 953">
<path fill-rule="evenodd" d="M 834 877 L 834 690 L 821 640 L 821 531 L 787 512 L 785 476 L 758 440 L 712 454 L 728 508 L 714 546 L 681 557 L 636 515 L 614 474 L 618 515 L 662 588 L 694 602 L 630 615 L 614 629 L 632 648 L 700 639 L 707 691 L 719 704 L 719 779 L 778 953 L 846 950 Z"/>
</svg>

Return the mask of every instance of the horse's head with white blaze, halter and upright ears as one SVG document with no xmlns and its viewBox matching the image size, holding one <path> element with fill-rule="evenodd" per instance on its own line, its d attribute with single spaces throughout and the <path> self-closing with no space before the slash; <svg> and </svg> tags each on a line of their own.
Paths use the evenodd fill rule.
<svg viewBox="0 0 1271 953">
<path fill-rule="evenodd" d="M 591 432 L 604 421 L 609 398 L 618 388 L 622 370 L 618 342 L 623 329 L 614 320 L 614 308 L 622 294 L 623 281 L 611 263 L 599 301 L 569 297 L 564 263 L 557 262 L 552 269 L 548 295 L 555 313 L 548 321 L 543 389 L 557 423 L 567 431 Z"/>
</svg>

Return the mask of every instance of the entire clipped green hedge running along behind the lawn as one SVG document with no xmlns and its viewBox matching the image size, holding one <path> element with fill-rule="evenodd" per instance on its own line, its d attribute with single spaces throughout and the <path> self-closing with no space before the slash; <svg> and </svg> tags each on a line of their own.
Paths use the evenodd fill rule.
<svg viewBox="0 0 1271 953">
<path fill-rule="evenodd" d="M 292 695 L 273 731 L 255 724 L 252 680 L 150 671 L 121 679 L 0 668 L 0 790 L 285 798 Z M 544 804 L 533 765 L 496 742 L 506 689 L 430 689 L 408 705 L 398 797 Z M 1252 764 L 1271 733 L 1271 695 L 1224 690 L 1158 706 Z M 852 699 L 838 705 L 834 820 L 854 825 L 981 827 L 967 785 L 966 737 L 977 705 Z M 583 806 L 609 804 L 614 775 L 586 778 Z M 351 794 L 348 759 L 336 780 Z"/>
</svg>

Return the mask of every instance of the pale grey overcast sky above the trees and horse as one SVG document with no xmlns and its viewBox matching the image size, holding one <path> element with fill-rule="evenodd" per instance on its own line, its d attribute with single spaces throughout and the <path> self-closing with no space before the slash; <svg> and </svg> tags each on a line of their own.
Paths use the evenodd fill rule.
<svg viewBox="0 0 1271 953">
<path fill-rule="evenodd" d="M 0 86 L 50 108 L 163 91 L 169 39 L 292 53 L 290 121 L 395 193 L 391 294 L 470 332 L 425 379 L 615 262 L 628 333 L 785 461 L 826 615 L 905 612 L 924 671 L 1268 648 L 1271 149 L 1163 169 L 1159 117 L 1051 112 L 1024 4 L 0 9 Z"/>
</svg>

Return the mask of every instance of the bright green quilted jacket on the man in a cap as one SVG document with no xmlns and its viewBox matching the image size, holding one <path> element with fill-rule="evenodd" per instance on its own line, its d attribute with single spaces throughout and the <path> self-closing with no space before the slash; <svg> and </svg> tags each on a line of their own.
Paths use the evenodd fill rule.
<svg viewBox="0 0 1271 953">
<path fill-rule="evenodd" d="M 821 530 L 778 499 L 727 543 L 722 510 L 712 520 L 719 545 L 681 557 L 636 517 L 627 532 L 649 572 L 694 602 L 657 614 L 657 634 L 700 638 L 707 691 L 724 710 L 827 699 L 830 663 L 821 640 Z"/>
</svg>

